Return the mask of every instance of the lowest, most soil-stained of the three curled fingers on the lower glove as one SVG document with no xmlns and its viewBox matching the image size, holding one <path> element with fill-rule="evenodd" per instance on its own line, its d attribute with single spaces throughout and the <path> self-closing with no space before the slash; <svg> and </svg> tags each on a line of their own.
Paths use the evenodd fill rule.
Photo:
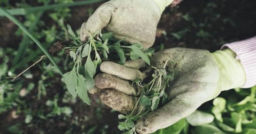
<svg viewBox="0 0 256 134">
<path fill-rule="evenodd" d="M 99 98 L 108 107 L 124 114 L 130 114 L 139 97 L 129 96 L 113 89 L 102 89 Z M 138 105 L 133 114 L 137 114 L 141 109 L 142 106 Z"/>
</svg>

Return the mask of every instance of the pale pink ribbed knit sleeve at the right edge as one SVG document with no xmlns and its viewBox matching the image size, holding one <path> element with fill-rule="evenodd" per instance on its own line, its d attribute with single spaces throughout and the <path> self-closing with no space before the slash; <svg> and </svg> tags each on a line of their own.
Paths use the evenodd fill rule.
<svg viewBox="0 0 256 134">
<path fill-rule="evenodd" d="M 256 84 L 256 37 L 225 44 L 221 49 L 231 49 L 236 53 L 236 59 L 241 61 L 245 71 L 246 81 L 242 88 L 249 88 Z"/>
</svg>

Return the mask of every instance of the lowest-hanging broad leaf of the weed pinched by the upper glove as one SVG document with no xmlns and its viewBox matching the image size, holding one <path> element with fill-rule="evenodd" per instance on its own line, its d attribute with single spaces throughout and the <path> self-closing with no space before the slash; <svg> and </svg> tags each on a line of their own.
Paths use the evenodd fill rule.
<svg viewBox="0 0 256 134">
<path fill-rule="evenodd" d="M 84 103 L 91 105 L 90 99 L 87 95 L 87 87 L 83 75 L 78 74 L 77 86 L 75 87 L 77 95 L 83 100 Z"/>
</svg>

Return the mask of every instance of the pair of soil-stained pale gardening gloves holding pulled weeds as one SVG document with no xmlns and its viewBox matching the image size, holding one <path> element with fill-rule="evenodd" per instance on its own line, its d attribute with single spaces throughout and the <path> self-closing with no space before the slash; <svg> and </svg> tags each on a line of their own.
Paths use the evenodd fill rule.
<svg viewBox="0 0 256 134">
<path fill-rule="evenodd" d="M 161 13 L 171 0 L 110 0 L 102 4 L 81 27 L 81 40 L 86 42 L 89 32 L 104 29 L 113 32 L 117 39 L 130 44 L 140 43 L 149 48 L 155 41 L 156 28 Z M 210 53 L 207 50 L 171 48 L 154 54 L 151 66 L 174 70 L 174 80 L 165 91 L 167 102 L 156 111 L 138 119 L 136 131 L 153 133 L 166 128 L 193 113 L 204 102 L 218 96 L 221 91 L 245 83 L 245 73 L 236 54 L 230 49 Z M 153 68 L 145 61 L 127 61 L 124 65 L 105 61 L 100 65 L 101 74 L 89 90 L 100 93 L 100 100 L 107 106 L 125 114 L 133 110 L 141 89 L 132 85 L 134 79 L 152 78 Z M 141 106 L 135 108 L 134 114 Z"/>
</svg>

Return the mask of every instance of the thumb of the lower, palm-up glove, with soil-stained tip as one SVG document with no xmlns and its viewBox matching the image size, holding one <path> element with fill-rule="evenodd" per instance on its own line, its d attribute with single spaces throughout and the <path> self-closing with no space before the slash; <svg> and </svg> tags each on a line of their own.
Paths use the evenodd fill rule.
<svg viewBox="0 0 256 134">
<path fill-rule="evenodd" d="M 175 96 L 161 108 L 139 118 L 136 123 L 136 131 L 140 134 L 153 133 L 176 123 L 203 104 L 207 94 L 209 93 L 197 90 Z"/>
</svg>

